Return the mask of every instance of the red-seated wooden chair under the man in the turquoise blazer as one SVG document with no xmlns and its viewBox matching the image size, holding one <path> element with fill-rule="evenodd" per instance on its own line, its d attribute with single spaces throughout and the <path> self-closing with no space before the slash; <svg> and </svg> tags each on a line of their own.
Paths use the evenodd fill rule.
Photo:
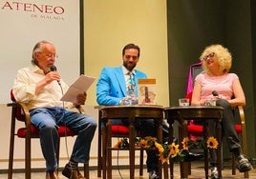
<svg viewBox="0 0 256 179">
<path fill-rule="evenodd" d="M 103 178 L 106 176 L 106 158 L 103 158 L 103 153 L 106 154 L 107 150 L 102 148 L 106 146 L 106 144 L 103 144 L 102 139 L 106 137 L 106 134 L 104 133 L 104 127 L 102 127 L 101 122 L 101 112 L 100 107 L 96 107 L 98 109 L 98 143 L 97 143 L 97 177 L 101 177 L 101 170 L 103 171 Z M 128 138 L 129 137 L 129 128 L 127 126 L 122 125 L 113 125 L 111 126 L 112 131 L 112 138 Z M 139 176 L 143 175 L 143 149 L 139 149 Z"/>
</svg>

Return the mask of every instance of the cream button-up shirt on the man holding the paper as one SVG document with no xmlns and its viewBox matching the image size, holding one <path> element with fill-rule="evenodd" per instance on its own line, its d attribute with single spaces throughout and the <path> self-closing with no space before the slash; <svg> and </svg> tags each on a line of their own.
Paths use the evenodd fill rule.
<svg viewBox="0 0 256 179">
<path fill-rule="evenodd" d="M 29 109 L 36 109 L 40 107 L 63 107 L 63 102 L 60 98 L 63 93 L 67 91 L 69 86 L 60 79 L 60 84 L 53 81 L 51 84 L 45 86 L 38 94 L 35 94 L 35 84 L 45 78 L 43 70 L 37 66 L 24 68 L 17 71 L 12 93 L 17 102 L 27 103 Z M 63 93 L 62 90 L 63 89 Z M 65 108 L 74 108 L 73 103 L 65 102 Z"/>
</svg>

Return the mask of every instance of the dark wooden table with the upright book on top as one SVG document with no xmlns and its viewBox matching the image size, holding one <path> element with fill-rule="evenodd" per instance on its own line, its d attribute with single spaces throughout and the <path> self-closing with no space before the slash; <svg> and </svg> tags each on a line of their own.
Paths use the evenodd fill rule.
<svg viewBox="0 0 256 179">
<path fill-rule="evenodd" d="M 112 178 L 112 148 L 111 148 L 111 120 L 128 120 L 129 121 L 129 159 L 130 159 L 130 178 L 134 179 L 135 175 L 135 121 L 139 119 L 155 119 L 158 126 L 157 138 L 162 140 L 162 119 L 163 108 L 160 106 L 105 106 L 100 107 L 100 121 L 104 123 L 103 128 L 106 138 L 103 139 L 103 161 L 107 158 L 107 164 L 103 162 L 103 169 L 107 168 L 107 178 Z M 105 142 L 104 142 L 105 140 Z M 107 146 L 104 147 L 104 144 Z M 106 165 L 106 166 L 104 166 Z M 161 168 L 161 164 L 160 164 Z M 160 171 L 161 176 L 161 171 Z M 103 176 L 104 177 L 104 176 Z"/>
</svg>

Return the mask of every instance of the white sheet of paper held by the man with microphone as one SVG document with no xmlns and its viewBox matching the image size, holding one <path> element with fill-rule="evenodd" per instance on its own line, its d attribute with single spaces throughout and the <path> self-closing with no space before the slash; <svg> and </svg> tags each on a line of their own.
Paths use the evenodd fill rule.
<svg viewBox="0 0 256 179">
<path fill-rule="evenodd" d="M 96 80 L 95 77 L 86 76 L 82 74 L 75 81 L 75 83 L 70 86 L 70 88 L 62 96 L 60 101 L 76 103 L 77 94 L 87 91 L 87 89 L 91 87 L 91 85 L 94 83 L 95 80 Z"/>
</svg>

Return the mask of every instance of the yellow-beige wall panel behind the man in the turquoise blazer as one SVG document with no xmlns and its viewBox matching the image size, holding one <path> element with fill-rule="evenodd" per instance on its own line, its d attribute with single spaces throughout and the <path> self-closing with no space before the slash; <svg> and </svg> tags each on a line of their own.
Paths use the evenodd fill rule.
<svg viewBox="0 0 256 179">
<path fill-rule="evenodd" d="M 156 78 L 158 101 L 169 105 L 166 0 L 85 0 L 85 74 L 98 77 L 105 66 L 122 64 L 121 50 L 139 45 L 137 69 Z M 87 104 L 96 105 L 96 82 Z"/>
</svg>

